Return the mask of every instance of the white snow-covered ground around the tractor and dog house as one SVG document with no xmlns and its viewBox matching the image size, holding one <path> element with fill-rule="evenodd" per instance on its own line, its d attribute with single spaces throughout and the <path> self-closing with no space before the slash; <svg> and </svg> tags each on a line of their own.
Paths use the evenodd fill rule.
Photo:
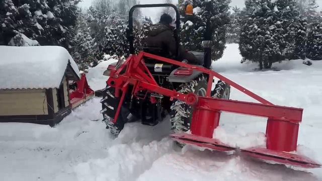
<svg viewBox="0 0 322 181">
<path fill-rule="evenodd" d="M 322 162 L 322 61 L 285 61 L 274 64 L 275 71 L 257 71 L 256 64 L 239 63 L 237 47 L 227 45 L 213 68 L 274 104 L 304 108 L 298 153 Z M 93 88 L 105 86 L 107 64 L 89 70 Z M 231 99 L 253 101 L 235 89 Z M 179 149 L 167 137 L 168 119 L 156 127 L 127 124 L 114 139 L 101 122 L 99 101 L 76 108 L 55 128 L 0 124 L 0 180 L 322 180 L 322 168 L 295 170 L 240 154 Z M 223 114 L 216 134 L 239 147 L 262 145 L 265 127 L 265 119 Z"/>
</svg>

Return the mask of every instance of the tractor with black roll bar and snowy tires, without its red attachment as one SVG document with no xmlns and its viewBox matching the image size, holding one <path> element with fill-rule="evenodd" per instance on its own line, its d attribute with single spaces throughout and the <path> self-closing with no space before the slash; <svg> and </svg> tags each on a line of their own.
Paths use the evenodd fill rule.
<svg viewBox="0 0 322 181">
<path fill-rule="evenodd" d="M 176 30 L 174 37 L 177 45 L 180 43 L 180 14 L 176 6 L 171 4 L 161 5 L 137 5 L 130 10 L 129 14 L 129 31 L 128 38 L 130 42 L 130 52 L 134 54 L 133 47 L 133 11 L 136 8 L 150 7 L 173 7 L 177 13 Z M 152 53 L 158 56 L 164 56 L 162 51 L 155 50 L 155 47 L 143 47 L 147 53 Z M 204 52 L 190 52 L 194 54 L 198 62 L 195 66 L 209 68 L 211 57 Z M 211 52 L 209 52 L 211 55 Z M 174 58 L 177 61 L 182 61 L 179 58 Z M 104 73 L 110 76 L 113 69 L 119 69 L 123 62 L 111 64 Z M 198 96 L 205 97 L 207 92 L 207 84 L 209 76 L 200 71 L 180 67 L 172 63 L 166 63 L 154 58 L 145 58 L 144 65 L 148 69 L 152 78 L 157 82 L 157 85 L 167 89 L 175 89 L 182 94 L 195 93 Z M 111 118 L 115 117 L 117 107 L 120 104 L 120 98 L 115 97 L 115 87 L 107 85 L 102 92 L 102 114 L 107 123 L 107 127 L 117 136 L 127 122 L 141 120 L 142 124 L 155 126 L 159 121 L 162 121 L 167 114 L 171 115 L 171 123 L 173 132 L 188 131 L 190 129 L 192 113 L 191 106 L 180 100 L 172 100 L 170 97 L 154 94 L 148 91 L 141 91 L 137 97 L 132 96 L 133 86 L 129 87 L 127 95 L 125 95 L 123 104 L 121 105 L 121 114 L 114 124 Z M 230 86 L 223 81 L 218 81 L 216 87 L 212 90 L 211 97 L 229 99 Z M 155 102 L 150 102 L 153 99 Z"/>
</svg>

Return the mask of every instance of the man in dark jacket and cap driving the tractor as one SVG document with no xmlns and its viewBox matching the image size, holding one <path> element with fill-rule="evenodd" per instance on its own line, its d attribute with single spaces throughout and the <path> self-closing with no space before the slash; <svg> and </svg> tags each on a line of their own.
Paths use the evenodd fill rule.
<svg viewBox="0 0 322 181">
<path fill-rule="evenodd" d="M 197 59 L 192 53 L 184 50 L 181 46 L 177 47 L 174 28 L 171 26 L 172 22 L 173 19 L 170 15 L 163 14 L 158 24 L 150 25 L 144 46 L 148 47 L 150 52 L 159 52 L 158 54 L 168 58 L 187 60 L 191 64 L 196 63 Z M 177 56 L 177 49 L 179 49 L 179 56 Z"/>
</svg>

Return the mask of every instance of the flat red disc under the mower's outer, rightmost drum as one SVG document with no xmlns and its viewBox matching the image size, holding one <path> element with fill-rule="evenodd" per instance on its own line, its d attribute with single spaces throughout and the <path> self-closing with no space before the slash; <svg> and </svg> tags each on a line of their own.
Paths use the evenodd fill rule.
<svg viewBox="0 0 322 181">
<path fill-rule="evenodd" d="M 241 152 L 246 153 L 251 157 L 255 157 L 262 160 L 267 160 L 275 163 L 281 163 L 291 166 L 303 167 L 303 168 L 319 168 L 321 165 L 315 161 L 307 158 L 305 156 L 282 152 L 274 151 L 265 148 L 249 148 L 246 150 L 241 150 Z"/>
</svg>

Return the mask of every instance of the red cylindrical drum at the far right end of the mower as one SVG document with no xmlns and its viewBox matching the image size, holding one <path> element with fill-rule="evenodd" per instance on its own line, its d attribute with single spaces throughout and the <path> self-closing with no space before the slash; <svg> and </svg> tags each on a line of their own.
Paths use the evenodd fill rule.
<svg viewBox="0 0 322 181">
<path fill-rule="evenodd" d="M 267 148 L 275 151 L 295 151 L 298 123 L 269 118 L 266 127 Z"/>
</svg>

